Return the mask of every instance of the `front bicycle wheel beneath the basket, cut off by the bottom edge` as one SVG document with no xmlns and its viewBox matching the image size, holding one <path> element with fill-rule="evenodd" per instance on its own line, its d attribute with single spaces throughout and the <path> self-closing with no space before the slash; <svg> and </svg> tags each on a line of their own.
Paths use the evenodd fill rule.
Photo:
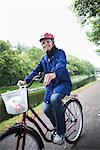
<svg viewBox="0 0 100 150">
<path fill-rule="evenodd" d="M 2 150 L 15 150 L 17 149 L 17 141 L 18 137 L 20 137 L 18 150 L 22 150 L 23 143 L 23 133 L 18 128 L 8 130 L 5 134 L 0 137 L 0 148 Z M 25 139 L 25 147 L 24 150 L 41 150 L 39 147 L 39 142 L 36 139 L 36 135 L 32 133 L 30 130 L 26 129 L 26 139 Z"/>
</svg>

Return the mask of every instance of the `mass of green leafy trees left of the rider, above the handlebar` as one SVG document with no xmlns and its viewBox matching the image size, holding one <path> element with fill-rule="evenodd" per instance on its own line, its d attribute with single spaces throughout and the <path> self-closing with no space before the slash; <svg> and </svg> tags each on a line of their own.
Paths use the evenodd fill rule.
<svg viewBox="0 0 100 150">
<path fill-rule="evenodd" d="M 0 44 L 0 85 L 13 85 L 24 79 L 43 56 L 42 50 L 35 47 L 14 49 L 2 40 Z"/>
</svg>

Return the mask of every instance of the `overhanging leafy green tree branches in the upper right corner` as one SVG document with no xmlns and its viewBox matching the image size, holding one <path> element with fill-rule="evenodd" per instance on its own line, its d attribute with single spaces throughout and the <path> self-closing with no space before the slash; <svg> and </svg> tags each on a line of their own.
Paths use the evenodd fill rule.
<svg viewBox="0 0 100 150">
<path fill-rule="evenodd" d="M 74 10 L 82 25 L 91 25 L 91 32 L 87 32 L 89 40 L 100 45 L 100 1 L 75 0 Z"/>
</svg>

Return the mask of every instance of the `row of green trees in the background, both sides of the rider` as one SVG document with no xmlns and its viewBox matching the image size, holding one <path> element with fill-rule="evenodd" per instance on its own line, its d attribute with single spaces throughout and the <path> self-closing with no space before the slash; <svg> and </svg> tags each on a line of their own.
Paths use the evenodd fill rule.
<svg viewBox="0 0 100 150">
<path fill-rule="evenodd" d="M 44 52 L 36 47 L 22 46 L 20 43 L 13 48 L 9 41 L 0 40 L 0 86 L 13 85 L 19 79 L 24 79 L 43 57 Z M 67 66 L 70 75 L 94 73 L 94 67 L 89 61 L 68 56 Z"/>
</svg>

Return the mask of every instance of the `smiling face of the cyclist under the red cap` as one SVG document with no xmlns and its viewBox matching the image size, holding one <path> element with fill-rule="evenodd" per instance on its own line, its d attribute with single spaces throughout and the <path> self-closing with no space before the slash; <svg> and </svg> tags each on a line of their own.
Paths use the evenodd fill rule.
<svg viewBox="0 0 100 150">
<path fill-rule="evenodd" d="M 52 42 L 51 39 L 44 39 L 42 42 L 42 47 L 45 50 L 45 52 L 48 50 L 50 51 L 52 49 L 52 47 L 54 46 L 54 43 Z"/>
</svg>

